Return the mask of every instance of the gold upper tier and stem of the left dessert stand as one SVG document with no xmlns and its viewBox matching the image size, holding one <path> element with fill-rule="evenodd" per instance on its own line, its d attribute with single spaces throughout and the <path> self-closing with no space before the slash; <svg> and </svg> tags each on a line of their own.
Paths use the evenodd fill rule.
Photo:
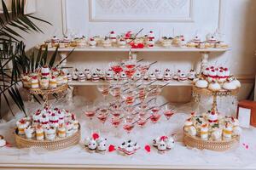
<svg viewBox="0 0 256 170">
<path fill-rule="evenodd" d="M 28 91 L 32 95 L 38 95 L 41 94 L 44 99 L 44 105 L 48 105 L 48 96 L 49 94 L 60 94 L 62 92 L 65 92 L 68 88 L 67 84 L 63 84 L 61 86 L 58 86 L 57 88 L 28 88 Z"/>
</svg>

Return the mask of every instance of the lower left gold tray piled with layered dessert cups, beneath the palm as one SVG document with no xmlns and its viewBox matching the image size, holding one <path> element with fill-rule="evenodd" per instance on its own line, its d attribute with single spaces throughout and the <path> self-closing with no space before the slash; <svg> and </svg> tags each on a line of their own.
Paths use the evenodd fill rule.
<svg viewBox="0 0 256 170">
<path fill-rule="evenodd" d="M 40 147 L 57 150 L 79 142 L 79 122 L 64 109 L 44 107 L 16 122 L 18 147 Z"/>
</svg>

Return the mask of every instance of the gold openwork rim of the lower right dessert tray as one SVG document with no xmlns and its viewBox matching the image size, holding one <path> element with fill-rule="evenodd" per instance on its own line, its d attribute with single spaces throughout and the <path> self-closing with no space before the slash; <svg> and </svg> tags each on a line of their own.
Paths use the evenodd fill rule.
<svg viewBox="0 0 256 170">
<path fill-rule="evenodd" d="M 184 144 L 191 147 L 197 148 L 199 150 L 213 150 L 213 151 L 225 151 L 232 148 L 236 148 L 239 144 L 239 136 L 236 136 L 230 140 L 212 141 L 212 140 L 202 140 L 198 137 L 184 133 L 183 136 Z"/>
</svg>

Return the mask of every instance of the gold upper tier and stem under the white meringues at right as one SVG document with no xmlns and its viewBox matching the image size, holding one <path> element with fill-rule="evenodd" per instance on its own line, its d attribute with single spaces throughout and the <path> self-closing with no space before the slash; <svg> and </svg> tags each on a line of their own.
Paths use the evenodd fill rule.
<svg viewBox="0 0 256 170">
<path fill-rule="evenodd" d="M 213 102 L 212 102 L 212 110 L 217 111 L 217 97 L 222 96 L 230 96 L 230 95 L 236 95 L 238 94 L 240 88 L 236 88 L 235 90 L 218 90 L 218 91 L 212 91 L 208 88 L 197 88 L 193 86 L 193 94 L 198 95 L 212 95 Z"/>
</svg>

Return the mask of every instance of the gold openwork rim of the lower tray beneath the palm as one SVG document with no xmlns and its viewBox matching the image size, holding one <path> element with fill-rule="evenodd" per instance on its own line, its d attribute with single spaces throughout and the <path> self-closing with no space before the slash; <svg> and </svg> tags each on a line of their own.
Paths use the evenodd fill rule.
<svg viewBox="0 0 256 170">
<path fill-rule="evenodd" d="M 53 141 L 51 140 L 36 140 L 36 139 L 26 139 L 18 135 L 18 129 L 15 129 L 15 141 L 18 148 L 42 148 L 45 150 L 61 150 L 75 144 L 78 144 L 81 138 L 80 126 L 76 133 L 72 136 L 66 138 L 57 138 Z"/>
</svg>

